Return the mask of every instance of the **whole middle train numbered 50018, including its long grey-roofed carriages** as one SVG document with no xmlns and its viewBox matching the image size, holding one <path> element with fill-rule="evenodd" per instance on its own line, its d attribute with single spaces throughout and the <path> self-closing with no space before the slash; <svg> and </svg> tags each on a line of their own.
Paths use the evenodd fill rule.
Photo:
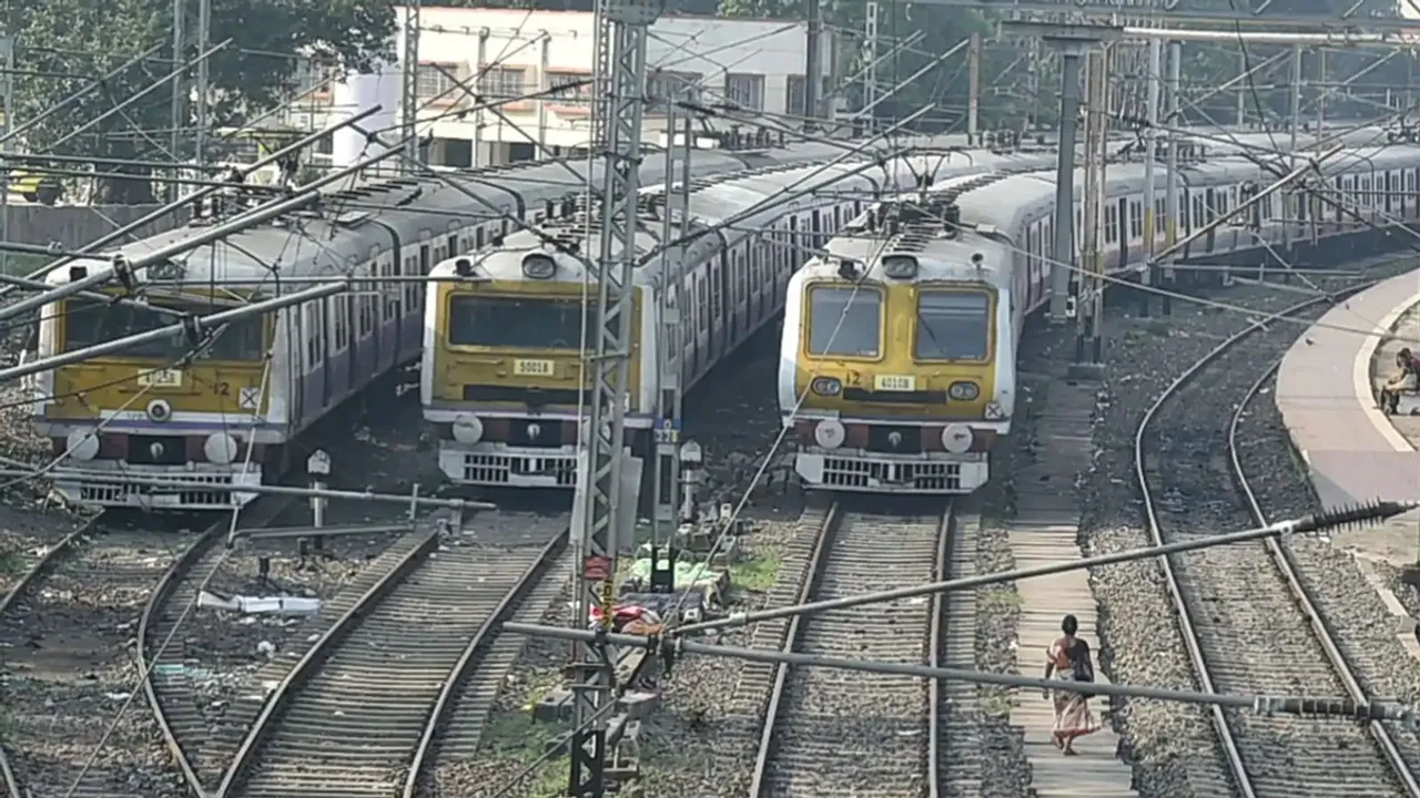
<svg viewBox="0 0 1420 798">
<path fill-rule="evenodd" d="M 638 454 L 649 452 L 660 352 L 669 351 L 689 390 L 774 318 L 808 253 L 882 192 L 936 173 L 983 173 L 1042 165 L 1039 155 L 978 152 L 863 163 L 787 166 L 696 180 L 689 226 L 657 253 L 665 213 L 662 189 L 640 197 L 632 297 L 626 429 Z M 790 202 L 795 189 L 831 185 Z M 679 227 L 682 216 L 672 212 Z M 571 203 L 537 231 L 511 233 L 477 254 L 437 264 L 425 302 L 422 399 L 439 434 L 444 476 L 467 486 L 561 487 L 577 481 L 578 420 L 589 398 L 582 372 L 588 254 L 586 214 Z M 582 241 L 585 239 L 585 248 Z M 677 280 L 679 275 L 679 280 Z M 674 291 L 684 334 L 657 328 L 653 308 Z M 594 290 L 594 288 L 592 288 Z M 584 312 L 585 311 L 585 312 Z M 586 325 L 584 328 L 584 324 Z"/>
</svg>

